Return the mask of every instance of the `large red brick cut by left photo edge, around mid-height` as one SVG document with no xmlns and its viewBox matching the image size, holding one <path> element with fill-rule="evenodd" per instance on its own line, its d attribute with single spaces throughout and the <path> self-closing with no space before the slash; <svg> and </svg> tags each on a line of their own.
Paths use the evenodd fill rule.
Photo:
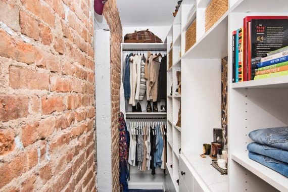
<svg viewBox="0 0 288 192">
<path fill-rule="evenodd" d="M 9 121 L 28 115 L 28 97 L 0 94 L 0 121 Z"/>
</svg>

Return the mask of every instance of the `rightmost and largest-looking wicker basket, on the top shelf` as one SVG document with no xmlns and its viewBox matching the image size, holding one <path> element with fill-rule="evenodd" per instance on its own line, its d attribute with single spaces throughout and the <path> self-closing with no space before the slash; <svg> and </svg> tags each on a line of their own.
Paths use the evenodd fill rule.
<svg viewBox="0 0 288 192">
<path fill-rule="evenodd" d="M 205 31 L 208 31 L 228 10 L 228 0 L 211 0 L 205 11 Z"/>
</svg>

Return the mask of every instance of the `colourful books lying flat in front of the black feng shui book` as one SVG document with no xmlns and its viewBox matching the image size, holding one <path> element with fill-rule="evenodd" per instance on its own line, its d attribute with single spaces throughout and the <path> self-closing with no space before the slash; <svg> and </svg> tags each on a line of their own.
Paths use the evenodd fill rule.
<svg viewBox="0 0 288 192">
<path fill-rule="evenodd" d="M 267 55 L 257 64 L 254 80 L 288 75 L 288 46 Z"/>
</svg>

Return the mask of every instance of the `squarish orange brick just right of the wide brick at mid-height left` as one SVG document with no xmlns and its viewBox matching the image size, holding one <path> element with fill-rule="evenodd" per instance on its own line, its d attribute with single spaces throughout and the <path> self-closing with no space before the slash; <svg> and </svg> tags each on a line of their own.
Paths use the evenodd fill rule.
<svg viewBox="0 0 288 192">
<path fill-rule="evenodd" d="M 72 91 L 72 82 L 68 78 L 52 76 L 50 77 L 50 89 L 57 92 L 70 92 Z"/>
</svg>

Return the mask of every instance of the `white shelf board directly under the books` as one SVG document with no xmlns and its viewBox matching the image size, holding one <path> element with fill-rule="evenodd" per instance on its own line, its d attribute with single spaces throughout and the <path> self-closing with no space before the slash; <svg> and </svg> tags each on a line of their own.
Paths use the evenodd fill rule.
<svg viewBox="0 0 288 192">
<path fill-rule="evenodd" d="M 288 88 L 288 75 L 232 83 L 232 88 Z"/>
</svg>

